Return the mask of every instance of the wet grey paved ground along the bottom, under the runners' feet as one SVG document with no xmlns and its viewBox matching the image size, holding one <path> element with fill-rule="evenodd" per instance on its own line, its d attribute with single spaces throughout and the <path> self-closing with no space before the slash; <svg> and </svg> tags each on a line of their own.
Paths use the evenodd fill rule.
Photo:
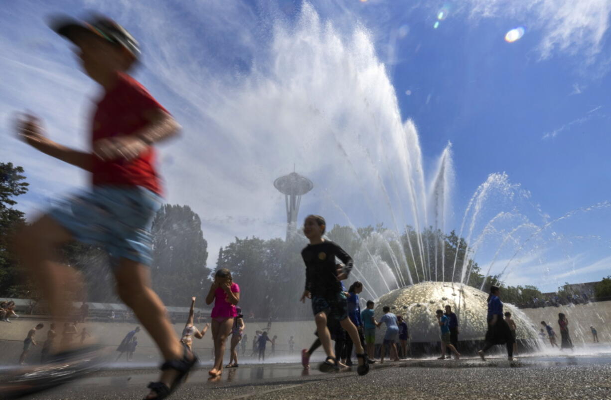
<svg viewBox="0 0 611 400">
<path fill-rule="evenodd" d="M 611 399 L 611 357 L 415 360 L 354 371 L 303 373 L 300 365 L 241 366 L 210 382 L 195 372 L 172 399 Z M 155 375 L 110 370 L 33 399 L 140 399 Z"/>
</svg>

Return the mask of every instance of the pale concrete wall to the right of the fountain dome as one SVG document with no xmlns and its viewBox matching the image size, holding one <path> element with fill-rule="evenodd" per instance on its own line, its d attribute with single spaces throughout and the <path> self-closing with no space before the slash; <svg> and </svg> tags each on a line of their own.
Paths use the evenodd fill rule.
<svg viewBox="0 0 611 400">
<path fill-rule="evenodd" d="M 611 302 L 524 308 L 522 311 L 532 320 L 537 330 L 542 327 L 541 321 L 546 321 L 554 328 L 558 339 L 560 338 L 558 313 L 565 313 L 569 320 L 569 335 L 571 335 L 574 344 L 592 343 L 590 325 L 598 331 L 599 341 L 611 342 Z"/>
</svg>

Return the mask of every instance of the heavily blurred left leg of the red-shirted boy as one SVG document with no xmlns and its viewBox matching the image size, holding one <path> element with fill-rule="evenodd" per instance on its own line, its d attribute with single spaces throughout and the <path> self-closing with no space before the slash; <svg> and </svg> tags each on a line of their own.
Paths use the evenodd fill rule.
<svg viewBox="0 0 611 400">
<path fill-rule="evenodd" d="M 15 237 L 21 265 L 42 292 L 52 322 L 58 326 L 68 320 L 70 293 L 81 283 L 76 270 L 59 262 L 59 248 L 71 239 L 70 233 L 48 215 L 21 229 Z M 55 349 L 62 351 L 64 347 L 57 343 Z"/>
</svg>

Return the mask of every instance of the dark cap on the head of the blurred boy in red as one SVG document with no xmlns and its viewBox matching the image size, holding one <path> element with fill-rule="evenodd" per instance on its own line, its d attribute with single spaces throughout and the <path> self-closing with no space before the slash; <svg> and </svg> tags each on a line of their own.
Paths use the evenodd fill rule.
<svg viewBox="0 0 611 400">
<path fill-rule="evenodd" d="M 108 42 L 122 46 L 135 59 L 140 57 L 140 45 L 125 28 L 104 15 L 94 15 L 89 21 L 79 21 L 67 15 L 54 15 L 49 28 L 74 42 L 81 35 L 97 35 Z"/>
</svg>

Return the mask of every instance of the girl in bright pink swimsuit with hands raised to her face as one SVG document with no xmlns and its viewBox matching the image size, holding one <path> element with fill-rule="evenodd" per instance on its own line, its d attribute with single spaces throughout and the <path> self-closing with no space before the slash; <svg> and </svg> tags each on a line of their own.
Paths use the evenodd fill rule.
<svg viewBox="0 0 611 400">
<path fill-rule="evenodd" d="M 233 283 L 231 272 L 220 269 L 214 275 L 214 282 L 206 296 L 206 304 L 214 302 L 212 309 L 212 339 L 214 341 L 214 366 L 210 376 L 220 376 L 225 353 L 225 341 L 232 330 L 233 318 L 238 316 L 236 304 L 240 302 L 240 287 Z"/>
</svg>

